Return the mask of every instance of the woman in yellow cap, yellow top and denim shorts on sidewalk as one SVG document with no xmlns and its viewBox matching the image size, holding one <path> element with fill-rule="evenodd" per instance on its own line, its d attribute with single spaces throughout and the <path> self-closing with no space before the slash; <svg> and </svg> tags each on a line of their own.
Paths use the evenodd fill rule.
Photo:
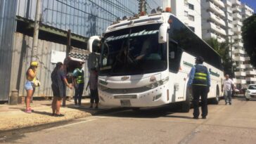
<svg viewBox="0 0 256 144">
<path fill-rule="evenodd" d="M 38 66 L 37 62 L 31 62 L 30 67 L 27 69 L 27 72 L 26 72 L 26 79 L 27 79 L 26 84 L 25 84 L 25 89 L 27 91 L 27 96 L 26 96 L 26 100 L 25 100 L 25 103 L 26 103 L 25 112 L 26 113 L 32 112 L 32 109 L 30 107 L 30 100 L 31 100 L 31 98 L 34 94 L 34 90 L 35 90 L 33 80 L 36 79 L 36 76 L 37 76 L 37 66 Z"/>
</svg>

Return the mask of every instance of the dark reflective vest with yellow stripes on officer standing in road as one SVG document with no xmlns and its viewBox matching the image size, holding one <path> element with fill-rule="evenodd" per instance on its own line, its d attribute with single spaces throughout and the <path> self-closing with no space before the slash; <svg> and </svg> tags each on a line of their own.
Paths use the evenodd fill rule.
<svg viewBox="0 0 256 144">
<path fill-rule="evenodd" d="M 196 71 L 194 75 L 194 79 L 192 85 L 196 86 L 207 86 L 207 67 L 203 65 L 195 65 Z"/>
</svg>

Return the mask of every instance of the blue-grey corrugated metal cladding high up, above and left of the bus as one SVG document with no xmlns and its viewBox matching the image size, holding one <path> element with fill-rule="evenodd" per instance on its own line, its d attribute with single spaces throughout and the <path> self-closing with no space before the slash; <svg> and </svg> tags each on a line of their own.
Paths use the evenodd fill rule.
<svg viewBox="0 0 256 144">
<path fill-rule="evenodd" d="M 163 0 L 148 0 L 148 11 L 162 6 Z M 35 0 L 18 0 L 17 15 L 34 20 Z M 41 22 L 61 30 L 71 30 L 84 37 L 101 35 L 106 27 L 124 15 L 139 11 L 136 0 L 44 0 Z"/>
</svg>

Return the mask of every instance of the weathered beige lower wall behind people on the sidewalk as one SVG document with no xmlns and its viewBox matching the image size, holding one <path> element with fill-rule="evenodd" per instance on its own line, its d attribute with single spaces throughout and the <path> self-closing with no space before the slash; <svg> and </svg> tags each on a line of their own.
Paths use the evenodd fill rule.
<svg viewBox="0 0 256 144">
<path fill-rule="evenodd" d="M 18 89 L 19 96 L 26 96 L 24 88 L 26 81 L 25 72 L 30 66 L 32 40 L 32 37 L 15 32 L 10 88 L 11 90 Z M 51 97 L 53 95 L 51 91 L 51 72 L 53 71 L 55 64 L 51 63 L 52 50 L 65 52 L 66 46 L 50 41 L 39 40 L 37 53 L 39 57 L 39 67 L 37 77 L 41 82 L 41 86 L 37 87 L 34 97 Z M 88 56 L 84 58 L 88 58 Z M 89 78 L 87 65 L 84 65 L 84 71 L 87 82 Z M 74 90 L 68 90 L 68 96 L 73 96 L 74 94 Z M 84 91 L 84 95 L 88 95 L 87 91 Z"/>
</svg>

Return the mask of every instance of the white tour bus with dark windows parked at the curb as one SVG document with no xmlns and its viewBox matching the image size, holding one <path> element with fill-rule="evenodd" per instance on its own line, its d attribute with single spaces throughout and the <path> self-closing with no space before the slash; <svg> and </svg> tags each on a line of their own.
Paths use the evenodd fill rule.
<svg viewBox="0 0 256 144">
<path fill-rule="evenodd" d="M 188 112 L 191 94 L 188 74 L 196 56 L 210 71 L 208 98 L 219 102 L 222 60 L 219 54 L 169 12 L 123 18 L 103 37 L 91 37 L 89 51 L 100 44 L 98 95 L 103 105 L 154 107 L 181 103 Z"/>
</svg>

